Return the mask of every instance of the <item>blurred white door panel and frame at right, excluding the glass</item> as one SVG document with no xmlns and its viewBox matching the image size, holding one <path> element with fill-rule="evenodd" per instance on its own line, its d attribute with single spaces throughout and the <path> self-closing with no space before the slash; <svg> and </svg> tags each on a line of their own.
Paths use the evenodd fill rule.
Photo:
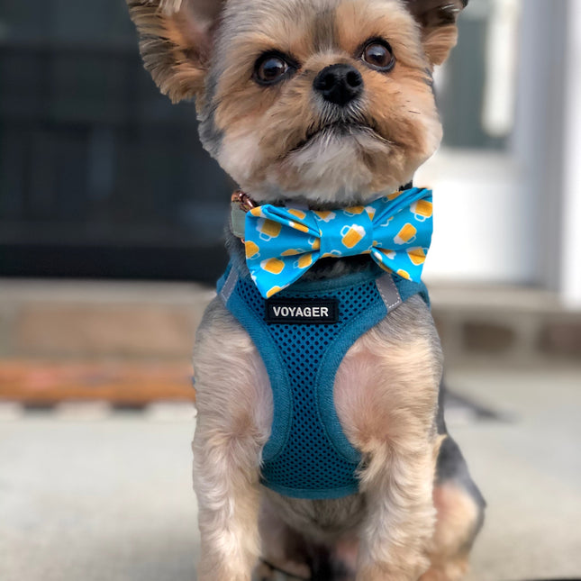
<svg viewBox="0 0 581 581">
<path fill-rule="evenodd" d="M 443 150 L 416 180 L 435 185 L 426 274 L 537 286 L 574 304 L 581 301 L 581 0 L 523 0 L 519 51 L 507 150 Z"/>
</svg>

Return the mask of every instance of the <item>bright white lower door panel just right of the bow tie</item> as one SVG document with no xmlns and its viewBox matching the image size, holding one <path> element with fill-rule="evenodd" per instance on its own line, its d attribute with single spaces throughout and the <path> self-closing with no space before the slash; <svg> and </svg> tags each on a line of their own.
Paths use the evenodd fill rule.
<svg viewBox="0 0 581 581">
<path fill-rule="evenodd" d="M 528 283 L 534 209 L 513 159 L 484 151 L 440 150 L 415 178 L 434 190 L 428 281 Z"/>
</svg>

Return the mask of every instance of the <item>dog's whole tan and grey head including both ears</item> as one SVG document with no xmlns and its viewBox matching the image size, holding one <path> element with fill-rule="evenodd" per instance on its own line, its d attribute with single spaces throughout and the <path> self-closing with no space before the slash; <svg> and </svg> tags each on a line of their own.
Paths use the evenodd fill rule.
<svg viewBox="0 0 581 581">
<path fill-rule="evenodd" d="M 129 4 L 162 91 L 196 97 L 205 148 L 257 201 L 365 202 L 440 144 L 431 70 L 467 0 Z"/>
</svg>

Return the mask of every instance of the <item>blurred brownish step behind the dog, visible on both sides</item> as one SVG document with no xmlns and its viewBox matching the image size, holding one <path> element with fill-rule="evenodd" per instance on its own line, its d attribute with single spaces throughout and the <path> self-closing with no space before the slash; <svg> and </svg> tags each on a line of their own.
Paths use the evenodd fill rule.
<svg viewBox="0 0 581 581">
<path fill-rule="evenodd" d="M 448 364 L 581 363 L 581 312 L 534 288 L 431 284 Z M 0 279 L 0 359 L 189 362 L 213 289 Z"/>
</svg>

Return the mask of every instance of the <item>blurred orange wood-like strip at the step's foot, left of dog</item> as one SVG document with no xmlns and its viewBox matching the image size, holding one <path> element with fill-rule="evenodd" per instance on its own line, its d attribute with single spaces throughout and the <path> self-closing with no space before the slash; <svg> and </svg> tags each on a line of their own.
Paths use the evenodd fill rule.
<svg viewBox="0 0 581 581">
<path fill-rule="evenodd" d="M 148 404 L 195 400 L 187 363 L 78 362 L 0 359 L 0 400 L 54 404 L 105 400 Z"/>
</svg>

